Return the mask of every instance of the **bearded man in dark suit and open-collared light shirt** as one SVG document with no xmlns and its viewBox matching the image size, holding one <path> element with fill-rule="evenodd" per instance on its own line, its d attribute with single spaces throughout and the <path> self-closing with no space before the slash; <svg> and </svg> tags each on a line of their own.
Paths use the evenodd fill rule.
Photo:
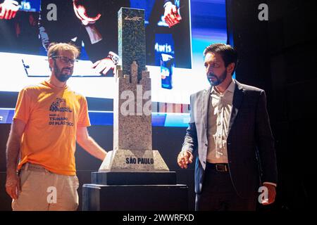
<svg viewBox="0 0 317 225">
<path fill-rule="evenodd" d="M 232 79 L 237 53 L 230 45 L 211 44 L 204 57 L 211 87 L 191 96 L 178 165 L 187 168 L 197 150 L 196 210 L 256 210 L 259 187 L 267 205 L 275 200 L 277 184 L 266 94 Z"/>
</svg>

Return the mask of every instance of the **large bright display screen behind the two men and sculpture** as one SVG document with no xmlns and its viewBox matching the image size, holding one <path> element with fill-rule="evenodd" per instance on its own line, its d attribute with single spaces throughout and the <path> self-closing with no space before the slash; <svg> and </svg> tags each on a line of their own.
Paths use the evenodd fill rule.
<svg viewBox="0 0 317 225">
<path fill-rule="evenodd" d="M 166 4 L 181 17 L 173 26 Z M 49 77 L 47 47 L 63 41 L 80 48 L 68 85 L 87 97 L 92 124 L 113 124 L 113 70 L 95 65 L 118 54 L 120 7 L 144 9 L 152 124 L 187 126 L 190 94 L 209 86 L 202 52 L 227 41 L 225 0 L 0 0 L 0 123 L 12 121 L 20 89 Z"/>
</svg>

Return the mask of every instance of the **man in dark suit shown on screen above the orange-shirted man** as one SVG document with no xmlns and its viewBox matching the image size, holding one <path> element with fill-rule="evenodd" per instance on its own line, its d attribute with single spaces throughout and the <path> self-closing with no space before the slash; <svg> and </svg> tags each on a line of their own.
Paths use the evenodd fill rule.
<svg viewBox="0 0 317 225">
<path fill-rule="evenodd" d="M 56 20 L 51 20 L 51 8 L 57 8 Z M 113 53 L 118 53 L 118 11 L 130 7 L 129 0 L 67 0 L 41 1 L 39 35 L 45 49 L 51 42 L 69 42 L 78 46 L 80 59 L 89 59 L 93 68 L 103 75 L 113 75 Z M 87 58 L 82 53 L 85 45 Z M 112 60 L 111 60 L 112 59 Z"/>
</svg>

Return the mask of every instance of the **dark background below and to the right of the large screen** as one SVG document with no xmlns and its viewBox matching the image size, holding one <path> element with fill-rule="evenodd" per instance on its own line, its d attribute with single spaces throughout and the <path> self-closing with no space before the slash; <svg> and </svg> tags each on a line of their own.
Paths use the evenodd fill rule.
<svg viewBox="0 0 317 225">
<path fill-rule="evenodd" d="M 268 4 L 268 21 L 258 19 L 259 4 Z M 308 210 L 314 203 L 313 146 L 316 139 L 316 2 L 295 0 L 227 0 L 228 34 L 237 48 L 238 81 L 264 89 L 275 136 L 279 181 L 277 198 L 261 211 Z M 201 65 L 202 66 L 202 65 Z M 4 190 L 5 149 L 10 124 L 0 124 L 0 210 L 11 210 Z M 112 149 L 113 127 L 94 126 L 90 135 Z M 194 170 L 175 162 L 185 128 L 153 127 L 153 148 L 178 173 L 178 184 L 189 186 L 189 210 L 194 210 Z M 89 183 L 99 160 L 77 148 L 80 186 Z M 81 200 L 81 188 L 79 189 Z M 81 206 L 79 207 L 80 210 Z"/>
</svg>

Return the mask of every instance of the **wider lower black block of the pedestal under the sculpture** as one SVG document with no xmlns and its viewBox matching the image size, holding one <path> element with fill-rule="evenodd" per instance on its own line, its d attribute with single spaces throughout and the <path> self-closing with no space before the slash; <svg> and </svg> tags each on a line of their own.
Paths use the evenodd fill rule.
<svg viewBox="0 0 317 225">
<path fill-rule="evenodd" d="M 82 186 L 82 210 L 188 210 L 187 190 L 187 186 L 182 184 L 84 184 Z"/>
</svg>

